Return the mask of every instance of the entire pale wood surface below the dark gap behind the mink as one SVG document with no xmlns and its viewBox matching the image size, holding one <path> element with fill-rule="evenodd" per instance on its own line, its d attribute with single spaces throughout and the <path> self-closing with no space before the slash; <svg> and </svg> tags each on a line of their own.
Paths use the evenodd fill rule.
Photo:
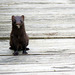
<svg viewBox="0 0 75 75">
<path fill-rule="evenodd" d="M 13 56 L 9 41 L 0 40 L 0 74 L 72 75 L 75 72 L 75 39 L 30 40 L 28 55 Z"/>
</svg>

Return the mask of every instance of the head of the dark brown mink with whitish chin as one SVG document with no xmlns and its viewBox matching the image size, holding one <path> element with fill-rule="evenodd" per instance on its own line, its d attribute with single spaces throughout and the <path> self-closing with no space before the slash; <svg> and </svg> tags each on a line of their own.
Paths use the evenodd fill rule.
<svg viewBox="0 0 75 75">
<path fill-rule="evenodd" d="M 20 29 L 24 25 L 24 15 L 12 16 L 12 26 Z"/>
</svg>

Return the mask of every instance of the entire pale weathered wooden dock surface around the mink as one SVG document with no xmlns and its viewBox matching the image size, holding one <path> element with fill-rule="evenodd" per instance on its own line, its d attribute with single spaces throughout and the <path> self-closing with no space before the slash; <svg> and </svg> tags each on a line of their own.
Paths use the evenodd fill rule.
<svg viewBox="0 0 75 75">
<path fill-rule="evenodd" d="M 25 15 L 28 55 L 9 50 L 12 15 Z M 75 75 L 74 38 L 74 0 L 0 1 L 0 75 Z"/>
</svg>

